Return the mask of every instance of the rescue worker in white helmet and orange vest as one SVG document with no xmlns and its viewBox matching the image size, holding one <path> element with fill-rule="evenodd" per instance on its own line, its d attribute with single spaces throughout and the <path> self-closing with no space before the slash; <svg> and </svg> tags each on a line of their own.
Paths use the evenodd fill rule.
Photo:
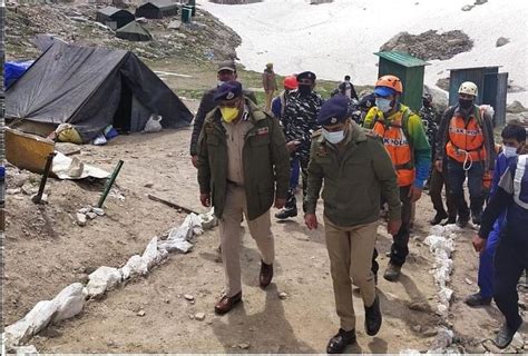
<svg viewBox="0 0 528 356">
<path fill-rule="evenodd" d="M 462 82 L 458 105 L 446 110 L 440 122 L 437 146 L 439 171 L 447 157 L 451 195 L 457 202 L 459 227 L 466 227 L 471 219 L 480 225 L 485 191 L 482 181 L 486 172 L 493 170 L 497 157 L 495 150 L 492 118 L 477 105 L 478 88 L 471 81 Z M 463 181 L 468 177 L 470 206 L 463 198 Z"/>
</svg>

